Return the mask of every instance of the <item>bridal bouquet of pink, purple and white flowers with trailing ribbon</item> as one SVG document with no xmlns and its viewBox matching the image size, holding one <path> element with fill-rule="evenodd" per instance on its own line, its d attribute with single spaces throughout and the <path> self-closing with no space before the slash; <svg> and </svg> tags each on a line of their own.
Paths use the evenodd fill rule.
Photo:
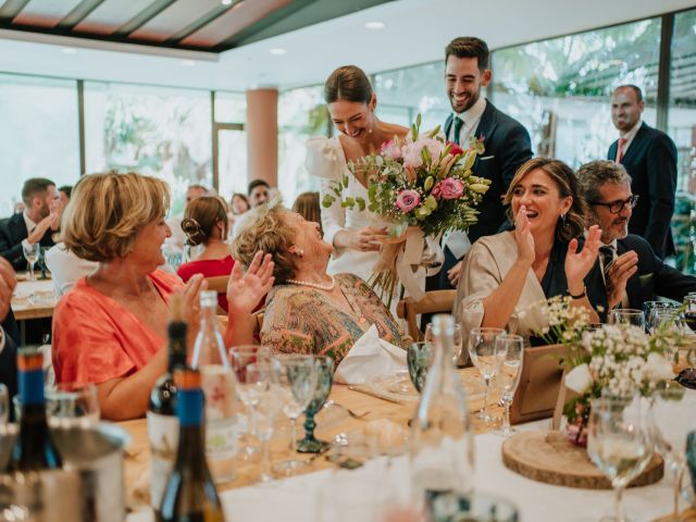
<svg viewBox="0 0 696 522">
<path fill-rule="evenodd" d="M 371 278 L 373 287 L 386 293 L 390 302 L 401 279 L 418 299 L 422 290 L 414 284 L 411 266 L 420 265 L 423 237 L 448 231 L 467 231 L 477 221 L 475 206 L 488 190 L 489 179 L 472 174 L 482 140 L 472 139 L 467 150 L 447 142 L 439 127 L 420 134 L 419 114 L 409 135 L 383 144 L 378 154 L 370 154 L 348 166 L 368 187 L 368 200 L 346 197 L 344 208 L 369 210 L 380 215 L 389 239 Z M 348 176 L 332 184 L 324 208 L 331 207 L 348 187 Z"/>
</svg>

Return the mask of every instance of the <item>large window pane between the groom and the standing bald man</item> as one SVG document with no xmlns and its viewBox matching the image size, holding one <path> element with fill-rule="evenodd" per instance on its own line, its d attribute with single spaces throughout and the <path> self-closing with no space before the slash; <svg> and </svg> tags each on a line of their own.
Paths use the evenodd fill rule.
<svg viewBox="0 0 696 522">
<path fill-rule="evenodd" d="M 577 167 L 618 138 L 616 86 L 641 87 L 643 119 L 655 125 L 659 52 L 659 17 L 497 50 L 493 100 L 527 128 L 536 154 Z"/>
</svg>

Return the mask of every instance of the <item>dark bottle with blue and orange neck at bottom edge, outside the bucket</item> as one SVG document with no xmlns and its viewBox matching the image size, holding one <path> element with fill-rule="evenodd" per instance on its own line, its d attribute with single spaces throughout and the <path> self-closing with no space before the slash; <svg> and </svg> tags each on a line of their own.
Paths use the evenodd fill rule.
<svg viewBox="0 0 696 522">
<path fill-rule="evenodd" d="M 174 370 L 178 449 L 164 488 L 158 520 L 162 522 L 223 522 L 217 490 L 206 463 L 203 394 L 196 370 Z"/>
</svg>

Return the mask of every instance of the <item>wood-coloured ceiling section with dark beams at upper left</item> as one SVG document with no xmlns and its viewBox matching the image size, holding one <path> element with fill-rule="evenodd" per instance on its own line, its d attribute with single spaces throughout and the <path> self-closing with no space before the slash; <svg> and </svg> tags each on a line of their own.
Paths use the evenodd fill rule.
<svg viewBox="0 0 696 522">
<path fill-rule="evenodd" d="M 391 0 L 7 0 L 0 28 L 222 52 Z"/>
</svg>

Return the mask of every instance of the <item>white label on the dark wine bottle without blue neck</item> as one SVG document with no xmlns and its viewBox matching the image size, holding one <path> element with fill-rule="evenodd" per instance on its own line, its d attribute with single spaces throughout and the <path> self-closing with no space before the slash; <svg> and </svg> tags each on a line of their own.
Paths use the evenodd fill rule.
<svg viewBox="0 0 696 522">
<path fill-rule="evenodd" d="M 178 448 L 178 419 L 148 411 L 148 438 L 152 462 L 150 477 L 150 506 L 156 509 L 162 504 L 164 488 L 174 469 Z"/>
</svg>

